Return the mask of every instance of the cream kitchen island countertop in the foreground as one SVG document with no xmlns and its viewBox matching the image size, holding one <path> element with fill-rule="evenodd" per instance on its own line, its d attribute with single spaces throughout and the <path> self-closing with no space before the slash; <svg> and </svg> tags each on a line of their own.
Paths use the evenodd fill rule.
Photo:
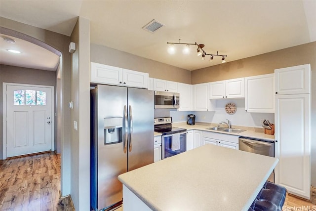
<svg viewBox="0 0 316 211">
<path fill-rule="evenodd" d="M 207 144 L 118 179 L 154 211 L 246 211 L 277 162 Z"/>
</svg>

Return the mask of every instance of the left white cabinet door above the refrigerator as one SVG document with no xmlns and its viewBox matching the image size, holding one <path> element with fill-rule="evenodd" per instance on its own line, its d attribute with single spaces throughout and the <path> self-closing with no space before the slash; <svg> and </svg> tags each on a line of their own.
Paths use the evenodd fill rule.
<svg viewBox="0 0 316 211">
<path fill-rule="evenodd" d="M 121 85 L 123 79 L 123 69 L 104 64 L 91 62 L 90 82 L 97 84 Z"/>
</svg>

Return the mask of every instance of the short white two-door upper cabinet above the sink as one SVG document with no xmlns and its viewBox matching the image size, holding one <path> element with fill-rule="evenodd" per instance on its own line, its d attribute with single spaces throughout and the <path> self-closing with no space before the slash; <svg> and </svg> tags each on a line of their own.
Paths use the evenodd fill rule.
<svg viewBox="0 0 316 211">
<path fill-rule="evenodd" d="M 209 83 L 209 98 L 242 98 L 244 97 L 244 78 Z"/>
</svg>

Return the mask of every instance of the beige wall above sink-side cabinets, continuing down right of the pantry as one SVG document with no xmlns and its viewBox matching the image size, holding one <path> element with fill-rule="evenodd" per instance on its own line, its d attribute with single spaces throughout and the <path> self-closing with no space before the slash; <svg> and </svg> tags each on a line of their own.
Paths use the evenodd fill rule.
<svg viewBox="0 0 316 211">
<path fill-rule="evenodd" d="M 191 82 L 199 84 L 263 75 L 274 73 L 278 68 L 302 64 L 311 64 L 312 68 L 312 185 L 316 187 L 316 42 L 195 70 Z"/>
</svg>

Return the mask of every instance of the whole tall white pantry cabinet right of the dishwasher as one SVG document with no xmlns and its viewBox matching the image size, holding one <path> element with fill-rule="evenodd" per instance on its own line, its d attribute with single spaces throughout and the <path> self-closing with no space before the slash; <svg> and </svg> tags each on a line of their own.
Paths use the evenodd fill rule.
<svg viewBox="0 0 316 211">
<path fill-rule="evenodd" d="M 275 70 L 275 182 L 311 198 L 311 66 Z"/>
</svg>

